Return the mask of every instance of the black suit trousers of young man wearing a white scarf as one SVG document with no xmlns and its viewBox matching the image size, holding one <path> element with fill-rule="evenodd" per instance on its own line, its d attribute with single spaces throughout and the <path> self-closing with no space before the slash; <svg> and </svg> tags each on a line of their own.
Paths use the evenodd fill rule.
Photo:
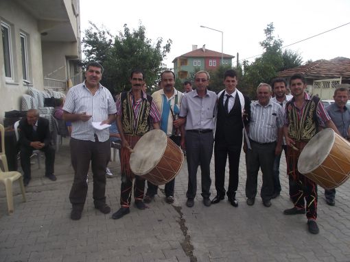
<svg viewBox="0 0 350 262">
<path fill-rule="evenodd" d="M 238 187 L 238 169 L 240 167 L 241 146 L 230 146 L 224 142 L 215 142 L 215 189 L 218 196 L 225 195 L 225 168 L 226 159 L 229 155 L 229 187 L 227 196 L 235 197 Z"/>
</svg>

